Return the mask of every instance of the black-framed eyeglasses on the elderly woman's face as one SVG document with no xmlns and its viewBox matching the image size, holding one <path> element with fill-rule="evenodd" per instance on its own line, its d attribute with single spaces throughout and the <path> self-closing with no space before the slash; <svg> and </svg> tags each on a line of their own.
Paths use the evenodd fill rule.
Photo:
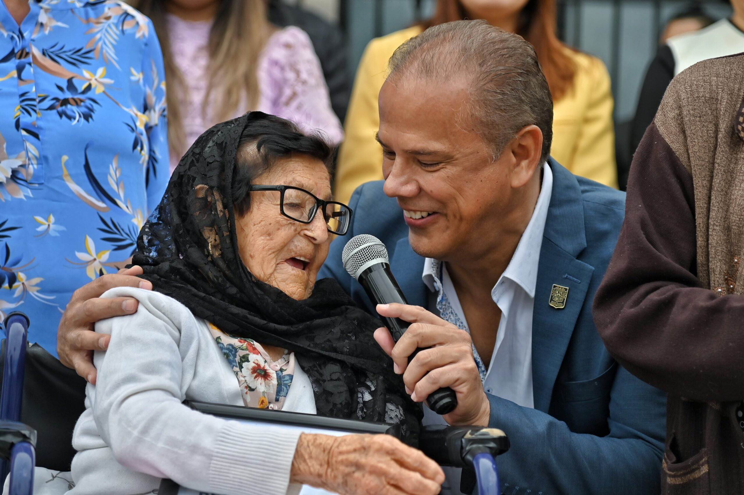
<svg viewBox="0 0 744 495">
<path fill-rule="evenodd" d="M 328 226 L 328 232 L 344 236 L 351 223 L 351 208 L 338 201 L 324 201 L 310 191 L 294 186 L 262 186 L 254 185 L 249 191 L 279 191 L 279 211 L 288 219 L 309 224 L 315 218 L 318 208 L 323 212 L 323 218 Z"/>
</svg>

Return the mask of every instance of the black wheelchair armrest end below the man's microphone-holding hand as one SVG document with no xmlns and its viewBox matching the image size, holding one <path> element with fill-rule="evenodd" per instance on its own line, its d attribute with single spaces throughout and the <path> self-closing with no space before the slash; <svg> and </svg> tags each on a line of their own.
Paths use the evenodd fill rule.
<svg viewBox="0 0 744 495">
<path fill-rule="evenodd" d="M 496 428 L 434 424 L 421 430 L 419 449 L 439 465 L 472 467 L 478 453 L 496 457 L 509 450 L 509 438 Z"/>
</svg>

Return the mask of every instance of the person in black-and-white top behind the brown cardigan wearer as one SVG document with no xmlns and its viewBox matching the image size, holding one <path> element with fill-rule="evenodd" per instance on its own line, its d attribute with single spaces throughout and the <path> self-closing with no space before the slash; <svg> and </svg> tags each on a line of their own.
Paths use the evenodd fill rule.
<svg viewBox="0 0 744 495">
<path fill-rule="evenodd" d="M 744 51 L 744 0 L 731 0 L 734 14 L 707 28 L 674 36 L 659 48 L 646 72 L 630 130 L 630 149 L 635 152 L 653 120 L 664 91 L 672 79 L 705 59 Z"/>
</svg>

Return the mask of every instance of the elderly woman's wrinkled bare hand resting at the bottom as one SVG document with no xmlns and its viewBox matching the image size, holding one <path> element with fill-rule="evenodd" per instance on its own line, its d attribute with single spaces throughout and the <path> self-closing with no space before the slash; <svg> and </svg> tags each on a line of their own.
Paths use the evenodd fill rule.
<svg viewBox="0 0 744 495">
<path fill-rule="evenodd" d="M 292 482 L 341 495 L 436 495 L 444 473 L 420 450 L 392 436 L 303 433 Z"/>
</svg>

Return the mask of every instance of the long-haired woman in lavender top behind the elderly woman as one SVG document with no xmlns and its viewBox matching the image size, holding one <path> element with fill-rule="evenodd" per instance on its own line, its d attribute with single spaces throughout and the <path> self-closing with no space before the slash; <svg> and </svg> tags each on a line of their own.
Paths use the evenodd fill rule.
<svg viewBox="0 0 744 495">
<path fill-rule="evenodd" d="M 265 1 L 130 3 L 153 19 L 163 48 L 171 172 L 202 132 L 248 110 L 341 142 L 341 123 L 310 38 L 300 28 L 270 24 Z"/>
</svg>

